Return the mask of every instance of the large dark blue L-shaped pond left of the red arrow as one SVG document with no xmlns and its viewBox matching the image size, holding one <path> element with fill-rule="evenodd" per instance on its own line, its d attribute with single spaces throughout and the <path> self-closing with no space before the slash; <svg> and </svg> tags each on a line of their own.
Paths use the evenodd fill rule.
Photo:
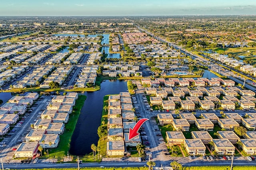
<svg viewBox="0 0 256 170">
<path fill-rule="evenodd" d="M 82 107 L 80 117 L 72 135 L 70 154 L 83 156 L 92 152 L 91 145 L 98 144 L 97 129 L 101 123 L 103 97 L 108 94 L 119 94 L 127 91 L 126 81 L 106 80 L 100 84 L 100 90 L 96 92 L 83 92 L 86 101 Z"/>
</svg>

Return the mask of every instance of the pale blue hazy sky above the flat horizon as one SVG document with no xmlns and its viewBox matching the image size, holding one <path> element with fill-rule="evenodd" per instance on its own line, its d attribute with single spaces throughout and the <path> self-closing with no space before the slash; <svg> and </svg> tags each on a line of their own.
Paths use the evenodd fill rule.
<svg viewBox="0 0 256 170">
<path fill-rule="evenodd" d="M 256 0 L 0 0 L 0 16 L 256 14 Z"/>
</svg>

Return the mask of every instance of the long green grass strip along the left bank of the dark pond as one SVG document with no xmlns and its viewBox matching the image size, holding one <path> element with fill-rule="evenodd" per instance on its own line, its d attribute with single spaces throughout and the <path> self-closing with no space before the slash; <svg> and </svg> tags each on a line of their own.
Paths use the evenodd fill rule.
<svg viewBox="0 0 256 170">
<path fill-rule="evenodd" d="M 73 135 L 74 129 L 76 127 L 76 123 L 78 120 L 78 117 L 80 115 L 80 111 L 82 107 L 84 106 L 84 101 L 86 100 L 86 96 L 79 95 L 78 100 L 76 100 L 76 106 L 74 106 L 74 113 L 70 114 L 68 123 L 66 123 L 65 128 L 66 130 L 62 135 L 60 135 L 60 143 L 57 148 L 55 149 L 48 149 L 49 151 L 49 157 L 64 157 L 67 155 L 68 150 L 70 148 L 70 141 L 71 137 Z M 68 130 L 69 129 L 69 130 Z M 52 150 L 52 151 L 50 151 Z M 43 153 L 44 151 L 42 151 Z M 43 157 L 47 157 L 47 154 Z"/>
</svg>

